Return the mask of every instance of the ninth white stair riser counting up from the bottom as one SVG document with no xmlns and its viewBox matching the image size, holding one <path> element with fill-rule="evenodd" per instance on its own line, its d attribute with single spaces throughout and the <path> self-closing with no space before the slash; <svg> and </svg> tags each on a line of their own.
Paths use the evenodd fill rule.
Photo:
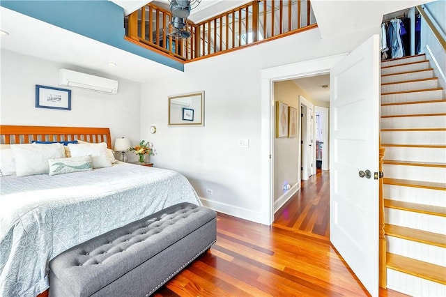
<svg viewBox="0 0 446 297">
<path fill-rule="evenodd" d="M 415 103 L 405 105 L 386 105 L 381 107 L 381 116 L 406 114 L 445 114 L 446 102 Z"/>
</svg>

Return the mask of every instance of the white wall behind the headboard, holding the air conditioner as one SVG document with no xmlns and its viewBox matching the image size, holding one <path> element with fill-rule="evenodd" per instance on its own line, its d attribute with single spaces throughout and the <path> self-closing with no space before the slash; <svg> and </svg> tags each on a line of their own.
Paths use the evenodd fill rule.
<svg viewBox="0 0 446 297">
<path fill-rule="evenodd" d="M 71 110 L 36 108 L 36 84 L 59 86 L 59 68 L 117 79 L 118 93 L 107 95 L 72 89 Z M 2 125 L 52 125 L 110 128 L 116 137 L 139 142 L 141 84 L 93 73 L 88 69 L 55 63 L 1 50 L 0 123 Z M 135 159 L 136 160 L 136 159 Z"/>
</svg>

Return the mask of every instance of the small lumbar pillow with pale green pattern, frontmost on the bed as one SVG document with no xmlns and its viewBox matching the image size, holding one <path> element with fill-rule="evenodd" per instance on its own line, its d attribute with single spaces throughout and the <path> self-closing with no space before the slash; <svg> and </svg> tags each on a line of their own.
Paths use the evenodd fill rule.
<svg viewBox="0 0 446 297">
<path fill-rule="evenodd" d="M 49 159 L 49 175 L 93 170 L 91 155 L 72 158 Z"/>
</svg>

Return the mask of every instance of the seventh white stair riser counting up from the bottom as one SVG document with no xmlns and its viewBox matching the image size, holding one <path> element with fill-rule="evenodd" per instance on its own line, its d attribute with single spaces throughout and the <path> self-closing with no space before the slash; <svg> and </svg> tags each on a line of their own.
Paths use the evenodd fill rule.
<svg viewBox="0 0 446 297">
<path fill-rule="evenodd" d="M 380 135 L 383 144 L 446 144 L 446 131 L 381 131 Z"/>
</svg>

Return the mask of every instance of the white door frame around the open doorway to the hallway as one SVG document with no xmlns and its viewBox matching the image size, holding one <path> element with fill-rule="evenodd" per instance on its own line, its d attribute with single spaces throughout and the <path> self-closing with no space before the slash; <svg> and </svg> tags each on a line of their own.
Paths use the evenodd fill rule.
<svg viewBox="0 0 446 297">
<path fill-rule="evenodd" d="M 272 224 L 274 220 L 274 82 L 329 73 L 348 53 L 325 56 L 286 66 L 261 70 L 261 209 L 259 222 Z"/>
</svg>

